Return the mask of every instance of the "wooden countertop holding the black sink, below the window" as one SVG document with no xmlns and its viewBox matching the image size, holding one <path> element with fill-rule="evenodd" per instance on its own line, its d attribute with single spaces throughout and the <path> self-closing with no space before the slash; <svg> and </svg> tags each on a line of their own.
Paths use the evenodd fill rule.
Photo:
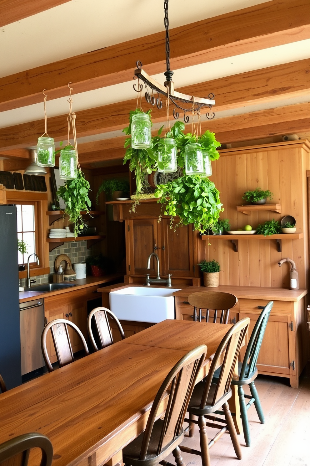
<svg viewBox="0 0 310 466">
<path fill-rule="evenodd" d="M 54 296 L 54 295 L 62 295 L 63 293 L 69 293 L 70 291 L 79 290 L 81 288 L 88 288 L 96 285 L 101 285 L 102 283 L 107 283 L 113 280 L 123 279 L 124 275 L 121 274 L 111 274 L 111 275 L 104 275 L 102 277 L 86 277 L 79 280 L 75 280 L 74 283 L 76 284 L 74 287 L 68 287 L 65 289 L 54 290 L 54 291 L 46 291 L 46 292 L 33 292 L 33 291 L 20 291 L 20 302 L 31 301 L 33 299 L 37 299 L 38 297 L 44 298 L 46 296 Z M 121 284 L 123 285 L 123 284 Z M 117 285 L 119 286 L 119 285 Z"/>
</svg>

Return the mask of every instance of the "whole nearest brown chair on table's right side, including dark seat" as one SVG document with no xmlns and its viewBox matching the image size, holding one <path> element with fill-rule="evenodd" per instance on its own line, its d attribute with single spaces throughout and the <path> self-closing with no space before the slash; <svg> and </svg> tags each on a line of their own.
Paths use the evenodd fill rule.
<svg viewBox="0 0 310 466">
<path fill-rule="evenodd" d="M 171 463 L 162 461 L 172 452 L 177 465 L 185 466 L 178 445 L 184 439 L 182 425 L 206 351 L 205 345 L 192 349 L 171 369 L 155 397 L 145 432 L 123 449 L 123 461 L 126 465 L 170 465 Z M 156 420 L 158 408 L 169 387 L 165 417 Z"/>
</svg>

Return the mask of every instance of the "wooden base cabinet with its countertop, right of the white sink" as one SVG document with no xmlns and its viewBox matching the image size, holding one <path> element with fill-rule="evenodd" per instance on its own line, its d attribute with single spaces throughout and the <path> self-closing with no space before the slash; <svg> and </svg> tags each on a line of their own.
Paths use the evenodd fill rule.
<svg viewBox="0 0 310 466">
<path fill-rule="evenodd" d="M 267 302 L 273 308 L 267 323 L 264 340 L 257 360 L 260 374 L 290 378 L 290 385 L 298 387 L 298 377 L 307 358 L 306 314 L 303 296 L 306 290 L 290 291 L 282 288 L 219 286 L 212 290 L 232 293 L 238 298 L 237 306 L 230 311 L 230 323 L 244 317 L 250 318 L 251 331 Z M 176 318 L 192 320 L 193 308 L 187 297 L 197 291 L 208 291 L 203 287 L 188 287 L 175 293 Z M 282 297 L 282 299 L 281 299 Z M 264 298 L 264 299 L 262 299 Z M 247 336 L 248 342 L 249 336 Z M 243 359 L 246 346 L 241 349 Z"/>
</svg>

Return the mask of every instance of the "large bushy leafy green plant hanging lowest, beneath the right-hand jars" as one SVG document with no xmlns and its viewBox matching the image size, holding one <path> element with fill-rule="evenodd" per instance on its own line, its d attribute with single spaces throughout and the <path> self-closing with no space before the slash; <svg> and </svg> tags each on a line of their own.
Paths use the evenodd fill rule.
<svg viewBox="0 0 310 466">
<path fill-rule="evenodd" d="M 178 216 L 178 226 L 191 223 L 195 230 L 204 233 L 213 226 L 222 211 L 214 183 L 198 175 L 184 175 L 166 185 L 158 185 L 155 197 L 165 204 L 164 215 L 171 217 L 171 228 Z"/>
</svg>

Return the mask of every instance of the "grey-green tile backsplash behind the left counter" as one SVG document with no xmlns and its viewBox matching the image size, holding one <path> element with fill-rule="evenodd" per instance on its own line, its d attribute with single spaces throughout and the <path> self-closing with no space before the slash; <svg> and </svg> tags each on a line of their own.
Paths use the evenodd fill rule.
<svg viewBox="0 0 310 466">
<path fill-rule="evenodd" d="M 71 262 L 74 264 L 75 262 L 84 262 L 87 256 L 91 256 L 92 254 L 99 254 L 98 251 L 94 251 L 95 248 L 96 247 L 91 247 L 90 249 L 87 249 L 86 240 L 79 242 L 72 241 L 70 243 L 65 243 L 63 246 L 56 247 L 56 249 L 53 249 L 53 251 L 49 254 L 50 273 L 31 278 L 36 278 L 37 285 L 40 285 L 41 283 L 47 283 L 48 281 L 53 281 L 52 275 L 55 273 L 54 262 L 59 254 L 66 254 L 69 256 Z M 26 287 L 26 278 L 22 278 L 20 280 L 20 286 Z"/>
</svg>

